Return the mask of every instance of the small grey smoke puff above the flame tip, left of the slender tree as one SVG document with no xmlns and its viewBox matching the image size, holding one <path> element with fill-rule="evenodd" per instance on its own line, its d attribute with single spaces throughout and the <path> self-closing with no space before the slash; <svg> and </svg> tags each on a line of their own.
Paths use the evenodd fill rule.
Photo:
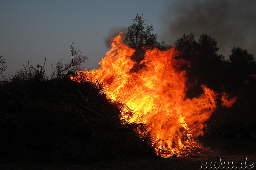
<svg viewBox="0 0 256 170">
<path fill-rule="evenodd" d="M 125 29 L 126 29 L 126 27 L 124 27 L 124 26 L 122 26 L 122 27 L 117 27 L 117 26 L 111 27 L 108 31 L 108 36 L 104 38 L 106 47 L 110 48 L 111 43 L 112 43 L 111 39 L 116 37 L 120 32 L 123 32 L 122 39 L 124 41 L 124 39 L 125 39 Z"/>
</svg>

